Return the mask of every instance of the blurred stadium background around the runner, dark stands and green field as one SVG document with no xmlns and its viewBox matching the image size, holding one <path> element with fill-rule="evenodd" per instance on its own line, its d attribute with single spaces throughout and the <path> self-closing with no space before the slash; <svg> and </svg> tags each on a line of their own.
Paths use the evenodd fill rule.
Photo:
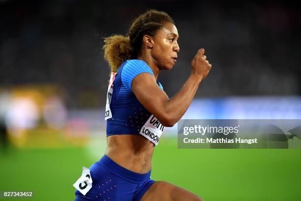
<svg viewBox="0 0 301 201">
<path fill-rule="evenodd" d="M 212 64 L 183 118 L 301 119 L 300 5 L 0 0 L 0 191 L 74 198 L 82 166 L 106 146 L 102 37 L 125 34 L 147 8 L 168 12 L 180 33 L 178 63 L 159 75 L 169 97 L 198 48 Z M 177 149 L 175 126 L 155 149 L 152 178 L 206 201 L 300 201 L 300 159 L 301 149 Z"/>
</svg>

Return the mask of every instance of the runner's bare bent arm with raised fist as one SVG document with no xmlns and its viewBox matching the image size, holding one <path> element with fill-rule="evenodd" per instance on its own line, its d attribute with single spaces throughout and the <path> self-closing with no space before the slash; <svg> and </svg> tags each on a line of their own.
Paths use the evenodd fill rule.
<svg viewBox="0 0 301 201">
<path fill-rule="evenodd" d="M 132 92 L 141 104 L 164 126 L 172 127 L 188 109 L 199 84 L 208 75 L 211 64 L 206 60 L 205 50 L 200 49 L 191 62 L 191 75 L 181 90 L 172 98 L 162 91 L 150 73 L 141 73 L 132 81 Z"/>
</svg>

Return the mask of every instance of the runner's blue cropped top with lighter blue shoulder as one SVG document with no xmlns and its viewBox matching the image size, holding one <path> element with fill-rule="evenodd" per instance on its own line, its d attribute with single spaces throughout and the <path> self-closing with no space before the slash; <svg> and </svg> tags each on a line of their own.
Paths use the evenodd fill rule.
<svg viewBox="0 0 301 201">
<path fill-rule="evenodd" d="M 113 82 L 110 102 L 112 118 L 107 120 L 107 136 L 114 134 L 139 134 L 151 113 L 139 102 L 131 89 L 138 74 L 147 72 L 154 76 L 151 68 L 142 60 L 127 60 L 118 69 Z M 157 81 L 159 87 L 163 87 Z"/>
</svg>

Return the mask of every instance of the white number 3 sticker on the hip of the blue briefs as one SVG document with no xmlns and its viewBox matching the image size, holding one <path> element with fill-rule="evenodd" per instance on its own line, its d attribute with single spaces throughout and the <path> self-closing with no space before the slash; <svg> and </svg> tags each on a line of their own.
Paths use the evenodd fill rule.
<svg viewBox="0 0 301 201">
<path fill-rule="evenodd" d="M 85 196 L 92 188 L 90 169 L 83 167 L 82 176 L 73 184 L 73 186 Z"/>
</svg>

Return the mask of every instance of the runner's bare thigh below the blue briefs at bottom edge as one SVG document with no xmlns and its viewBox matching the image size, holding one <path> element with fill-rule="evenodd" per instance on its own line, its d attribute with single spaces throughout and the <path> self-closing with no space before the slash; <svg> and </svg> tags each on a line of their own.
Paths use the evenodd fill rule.
<svg viewBox="0 0 301 201">
<path fill-rule="evenodd" d="M 154 182 L 141 201 L 203 201 L 193 193 L 165 181 Z"/>
</svg>

